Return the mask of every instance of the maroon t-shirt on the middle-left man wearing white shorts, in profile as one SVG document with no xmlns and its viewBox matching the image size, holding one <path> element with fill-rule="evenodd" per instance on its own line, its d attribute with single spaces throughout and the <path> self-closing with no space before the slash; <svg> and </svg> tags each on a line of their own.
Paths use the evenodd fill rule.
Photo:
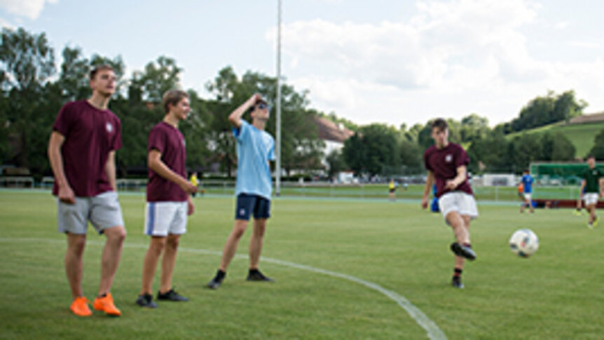
<svg viewBox="0 0 604 340">
<path fill-rule="evenodd" d="M 184 137 L 177 128 L 165 122 L 155 125 L 149 132 L 147 151 L 153 149 L 161 153 L 161 161 L 170 170 L 186 178 Z M 161 177 L 149 168 L 147 202 L 182 202 L 186 198 L 186 192 L 178 184 Z"/>
</svg>

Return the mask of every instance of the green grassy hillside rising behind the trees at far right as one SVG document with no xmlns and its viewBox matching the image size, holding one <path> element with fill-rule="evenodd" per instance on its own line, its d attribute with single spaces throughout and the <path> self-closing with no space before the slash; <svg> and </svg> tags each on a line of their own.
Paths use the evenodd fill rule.
<svg viewBox="0 0 604 340">
<path fill-rule="evenodd" d="M 568 123 L 554 123 L 545 125 L 540 128 L 534 128 L 532 130 L 525 130 L 521 132 L 510 133 L 505 136 L 507 140 L 512 140 L 514 137 L 522 135 L 523 133 L 541 133 L 549 131 L 552 133 L 561 132 L 565 135 L 577 149 L 575 156 L 583 157 L 593 147 L 593 138 L 596 137 L 600 130 L 604 129 L 604 122 L 597 123 L 583 123 L 583 124 L 568 124 Z"/>
</svg>

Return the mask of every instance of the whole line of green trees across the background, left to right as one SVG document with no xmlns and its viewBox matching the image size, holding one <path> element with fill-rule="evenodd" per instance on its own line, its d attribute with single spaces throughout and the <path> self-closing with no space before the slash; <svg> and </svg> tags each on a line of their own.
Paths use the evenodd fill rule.
<svg viewBox="0 0 604 340">
<path fill-rule="evenodd" d="M 90 95 L 88 72 L 97 64 L 111 64 L 118 89 L 110 109 L 122 121 L 123 149 L 116 153 L 120 177 L 146 175 L 146 139 L 149 130 L 163 118 L 160 105 L 166 90 L 180 88 L 183 69 L 165 56 L 125 76 L 120 55 L 83 55 L 78 46 L 65 46 L 58 69 L 55 51 L 45 33 L 3 29 L 0 45 L 0 157 L 2 164 L 29 168 L 34 175 L 51 175 L 46 158 L 50 127 L 62 105 Z M 224 67 L 205 89 L 202 98 L 188 89 L 191 114 L 181 123 L 187 145 L 187 167 L 198 172 L 232 176 L 236 168 L 235 140 L 228 114 L 252 93 L 261 93 L 269 104 L 275 101 L 277 81 L 258 72 L 235 74 Z M 329 177 L 352 170 L 357 175 L 405 175 L 423 173 L 423 151 L 432 145 L 430 123 L 396 128 L 373 123 L 359 126 L 334 112 L 325 114 L 310 107 L 308 91 L 282 84 L 282 168 L 309 175 L 322 170 L 324 142 L 318 138 L 315 116 L 322 116 L 355 132 L 341 151 L 326 156 Z M 509 123 L 490 128 L 487 118 L 469 114 L 460 121 L 449 119 L 450 140 L 462 144 L 471 158 L 472 172 L 521 172 L 531 161 L 571 161 L 575 147 L 561 134 L 544 132 L 506 135 L 582 114 L 587 104 L 572 90 L 553 92 L 531 100 Z M 273 105 L 271 105 L 273 107 Z M 274 109 L 271 113 L 274 114 Z M 275 119 L 267 130 L 275 132 Z M 596 147 L 604 149 L 604 132 Z M 599 146 L 598 146 L 599 145 Z M 594 149 L 598 151 L 599 149 Z M 602 150 L 604 156 L 604 150 Z M 583 155 L 579 155 L 583 156 Z M 604 158 L 604 157 L 603 157 Z"/>
</svg>

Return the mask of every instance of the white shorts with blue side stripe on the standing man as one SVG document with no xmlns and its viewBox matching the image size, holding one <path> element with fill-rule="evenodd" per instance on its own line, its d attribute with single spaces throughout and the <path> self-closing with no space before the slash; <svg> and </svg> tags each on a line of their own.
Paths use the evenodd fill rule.
<svg viewBox="0 0 604 340">
<path fill-rule="evenodd" d="M 186 233 L 187 203 L 147 202 L 144 233 L 149 236 Z"/>
</svg>

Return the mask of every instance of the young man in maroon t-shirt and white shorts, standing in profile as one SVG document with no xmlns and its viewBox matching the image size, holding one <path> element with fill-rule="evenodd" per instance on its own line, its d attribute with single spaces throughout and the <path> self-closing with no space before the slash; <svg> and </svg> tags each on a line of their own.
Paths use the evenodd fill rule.
<svg viewBox="0 0 604 340">
<path fill-rule="evenodd" d="M 194 206 L 189 193 L 197 187 L 186 179 L 186 149 L 184 137 L 178 129 L 188 113 L 188 95 L 181 90 L 170 90 L 163 95 L 165 116 L 149 132 L 147 164 L 149 183 L 145 209 L 144 233 L 151 236 L 143 263 L 142 290 L 136 303 L 156 308 L 151 295 L 151 283 L 157 263 L 163 252 L 158 300 L 188 301 L 172 288 L 172 273 L 180 237 L 186 233 L 187 215 Z"/>
</svg>

